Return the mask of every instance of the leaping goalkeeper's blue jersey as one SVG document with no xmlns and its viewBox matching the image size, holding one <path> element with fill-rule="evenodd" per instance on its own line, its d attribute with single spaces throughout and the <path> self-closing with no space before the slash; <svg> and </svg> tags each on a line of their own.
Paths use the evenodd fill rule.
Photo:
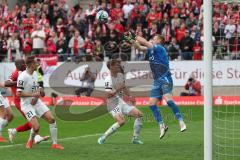
<svg viewBox="0 0 240 160">
<path fill-rule="evenodd" d="M 148 48 L 147 54 L 154 80 L 171 77 L 168 54 L 162 45 L 153 45 L 153 48 Z"/>
</svg>

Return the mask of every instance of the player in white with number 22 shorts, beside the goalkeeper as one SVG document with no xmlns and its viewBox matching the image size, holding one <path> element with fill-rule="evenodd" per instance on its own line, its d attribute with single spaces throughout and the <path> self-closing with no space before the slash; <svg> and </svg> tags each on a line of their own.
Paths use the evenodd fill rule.
<svg viewBox="0 0 240 160">
<path fill-rule="evenodd" d="M 103 144 L 111 134 L 123 126 L 125 124 L 124 115 L 127 115 L 136 118 L 134 122 L 132 143 L 143 144 L 139 139 L 143 114 L 133 106 L 135 100 L 129 95 L 129 90 L 125 86 L 121 62 L 118 60 L 111 60 L 108 62 L 108 68 L 111 73 L 105 79 L 107 108 L 116 122 L 98 139 L 98 143 Z M 123 94 L 127 96 L 129 103 L 131 102 L 131 104 L 128 104 L 123 100 Z"/>
</svg>

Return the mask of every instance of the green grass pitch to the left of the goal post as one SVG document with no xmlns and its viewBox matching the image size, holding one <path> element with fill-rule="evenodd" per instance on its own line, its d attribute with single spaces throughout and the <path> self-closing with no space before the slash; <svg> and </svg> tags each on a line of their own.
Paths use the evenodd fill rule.
<svg viewBox="0 0 240 160">
<path fill-rule="evenodd" d="M 57 118 L 59 143 L 65 150 L 51 150 L 51 142 L 33 145 L 25 149 L 29 132 L 18 133 L 16 143 L 0 144 L 1 160 L 202 160 L 203 159 L 203 108 L 181 107 L 188 130 L 179 133 L 179 126 L 167 107 L 161 107 L 169 130 L 163 139 L 159 139 L 159 127 L 148 107 L 139 107 L 145 117 L 141 139 L 144 145 L 131 144 L 133 119 L 118 132 L 107 139 L 104 145 L 98 145 L 97 139 L 111 124 L 109 114 L 86 122 L 66 122 Z M 86 112 L 90 107 L 72 107 L 74 113 Z M 54 113 L 54 107 L 51 107 Z M 26 120 L 14 109 L 15 119 L 7 128 L 23 124 Z M 41 135 L 49 135 L 49 127 L 40 121 Z M 6 128 L 4 137 L 7 138 Z"/>
</svg>

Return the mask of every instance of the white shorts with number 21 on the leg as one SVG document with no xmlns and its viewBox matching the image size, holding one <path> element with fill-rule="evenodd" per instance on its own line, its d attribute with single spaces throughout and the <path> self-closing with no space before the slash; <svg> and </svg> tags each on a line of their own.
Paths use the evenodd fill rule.
<svg viewBox="0 0 240 160">
<path fill-rule="evenodd" d="M 31 120 L 36 116 L 41 118 L 47 111 L 49 111 L 49 108 L 41 100 L 38 100 L 35 105 L 22 105 L 21 110 L 25 114 L 26 118 Z"/>
</svg>

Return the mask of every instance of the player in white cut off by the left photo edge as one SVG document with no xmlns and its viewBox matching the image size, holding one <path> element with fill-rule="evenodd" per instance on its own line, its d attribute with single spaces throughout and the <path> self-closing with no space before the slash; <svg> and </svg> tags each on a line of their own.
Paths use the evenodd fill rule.
<svg viewBox="0 0 240 160">
<path fill-rule="evenodd" d="M 5 87 L 0 83 L 0 87 Z M 7 142 L 2 136 L 3 128 L 13 119 L 13 112 L 8 102 L 3 98 L 0 92 L 0 142 Z"/>
</svg>

